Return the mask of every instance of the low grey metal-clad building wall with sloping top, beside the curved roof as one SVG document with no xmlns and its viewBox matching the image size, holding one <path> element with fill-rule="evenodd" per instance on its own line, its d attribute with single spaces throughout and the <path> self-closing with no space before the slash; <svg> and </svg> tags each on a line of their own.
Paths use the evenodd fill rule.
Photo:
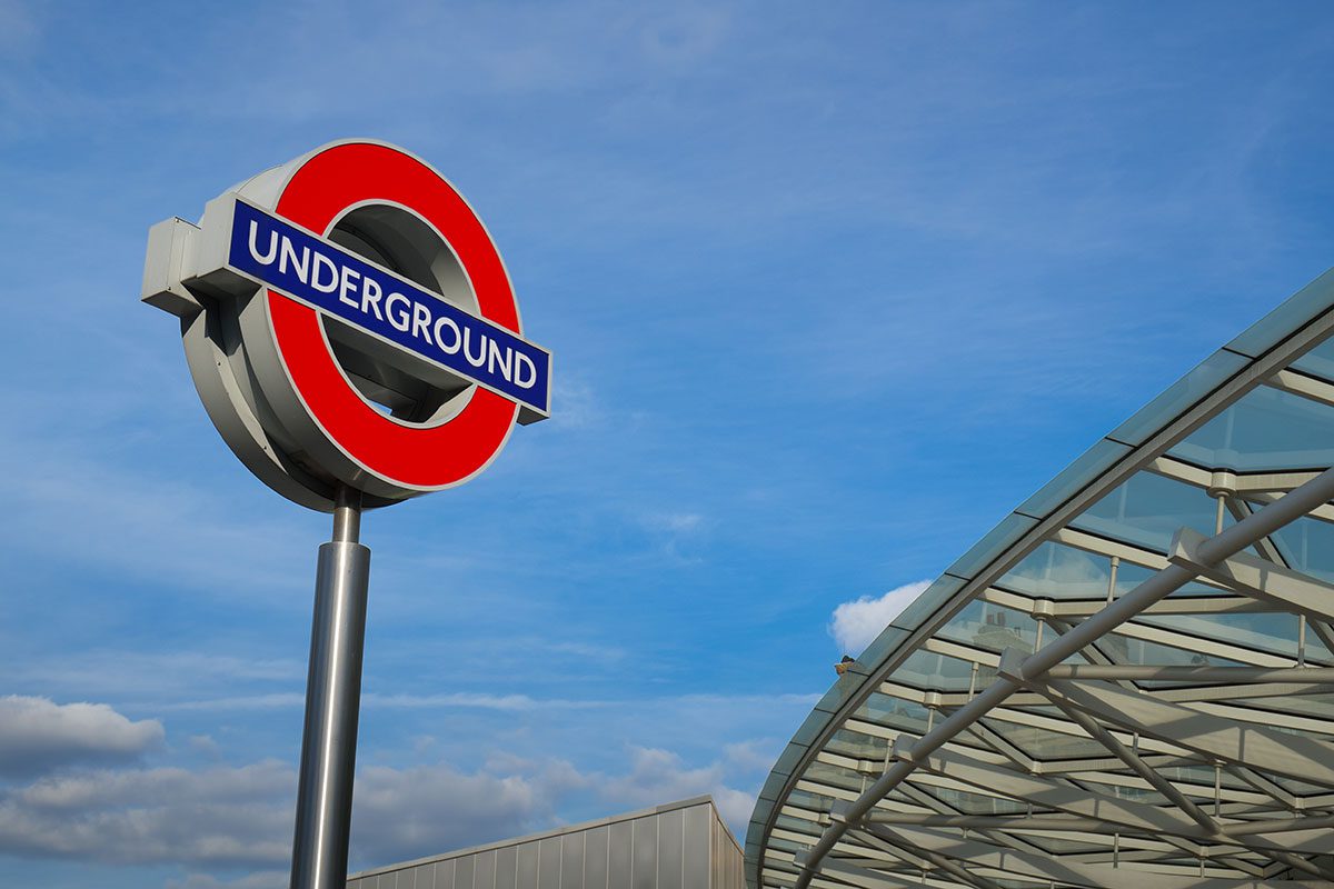
<svg viewBox="0 0 1334 889">
<path fill-rule="evenodd" d="M 744 889 L 708 798 L 359 874 L 348 889 Z"/>
</svg>

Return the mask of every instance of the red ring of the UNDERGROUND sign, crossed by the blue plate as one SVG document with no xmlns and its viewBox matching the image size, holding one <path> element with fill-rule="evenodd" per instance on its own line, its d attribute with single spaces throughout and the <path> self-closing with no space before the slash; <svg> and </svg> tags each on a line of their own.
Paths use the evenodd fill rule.
<svg viewBox="0 0 1334 889">
<path fill-rule="evenodd" d="M 292 173 L 275 211 L 328 235 L 348 207 L 394 203 L 444 236 L 472 284 L 483 317 L 522 335 L 514 287 L 491 236 L 467 201 L 427 164 L 376 143 L 316 151 Z M 374 409 L 348 383 L 324 339 L 320 315 L 267 292 L 273 343 L 311 419 L 366 472 L 412 490 L 467 481 L 499 453 L 518 405 L 476 387 L 463 411 L 436 427 L 402 425 Z"/>
</svg>

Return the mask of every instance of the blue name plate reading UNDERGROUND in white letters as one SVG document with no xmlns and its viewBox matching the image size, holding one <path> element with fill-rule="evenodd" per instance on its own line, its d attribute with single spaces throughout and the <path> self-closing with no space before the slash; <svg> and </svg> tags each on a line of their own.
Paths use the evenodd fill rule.
<svg viewBox="0 0 1334 889">
<path fill-rule="evenodd" d="M 240 200 L 227 263 L 297 303 L 550 413 L 550 352 Z"/>
</svg>

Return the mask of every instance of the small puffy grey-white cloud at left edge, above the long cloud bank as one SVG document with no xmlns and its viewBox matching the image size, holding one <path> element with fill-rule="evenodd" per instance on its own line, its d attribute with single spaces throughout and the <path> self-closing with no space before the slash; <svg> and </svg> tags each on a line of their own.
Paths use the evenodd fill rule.
<svg viewBox="0 0 1334 889">
<path fill-rule="evenodd" d="M 161 741 L 161 722 L 133 722 L 105 704 L 0 697 L 0 776 L 33 776 L 72 764 L 123 762 Z"/>
</svg>

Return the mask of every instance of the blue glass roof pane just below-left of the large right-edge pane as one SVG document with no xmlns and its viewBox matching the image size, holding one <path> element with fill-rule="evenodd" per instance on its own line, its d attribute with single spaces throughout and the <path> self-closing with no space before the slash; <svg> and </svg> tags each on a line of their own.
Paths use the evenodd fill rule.
<svg viewBox="0 0 1334 889">
<path fill-rule="evenodd" d="M 1071 521 L 1075 528 L 1166 553 L 1182 526 L 1214 536 L 1218 504 L 1199 488 L 1139 472 Z M 1225 525 L 1231 514 L 1225 516 Z"/>
</svg>

